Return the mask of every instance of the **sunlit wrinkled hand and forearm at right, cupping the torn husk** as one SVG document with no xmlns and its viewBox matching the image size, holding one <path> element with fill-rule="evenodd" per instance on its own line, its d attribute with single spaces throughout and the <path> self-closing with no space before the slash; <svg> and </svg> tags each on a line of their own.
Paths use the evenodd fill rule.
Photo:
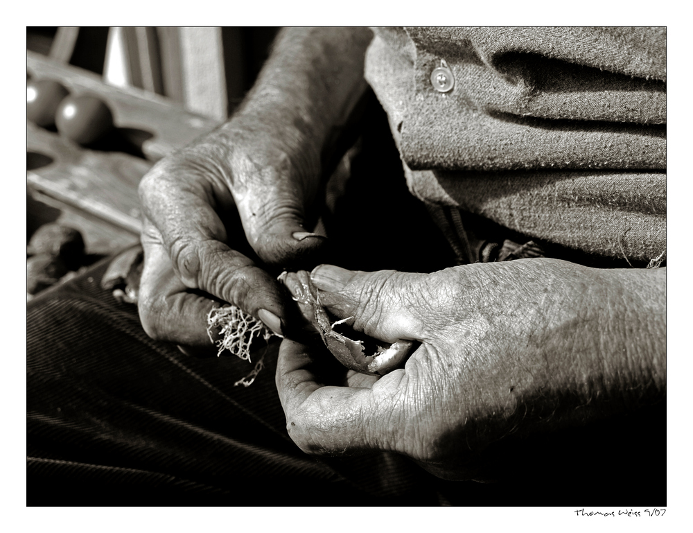
<svg viewBox="0 0 693 533">
<path fill-rule="evenodd" d="M 326 350 L 284 340 L 289 434 L 306 453 L 395 451 L 444 478 L 483 478 L 480 453 L 504 437 L 663 398 L 665 276 L 554 259 L 432 274 L 321 265 L 311 279 L 331 313 L 421 346 L 386 376 L 340 379 Z"/>
</svg>

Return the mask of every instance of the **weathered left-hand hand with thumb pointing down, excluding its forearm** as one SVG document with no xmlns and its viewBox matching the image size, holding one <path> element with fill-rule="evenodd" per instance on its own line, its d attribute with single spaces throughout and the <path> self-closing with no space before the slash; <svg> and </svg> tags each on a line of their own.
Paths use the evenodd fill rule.
<svg viewBox="0 0 693 533">
<path fill-rule="evenodd" d="M 239 114 L 143 178 L 139 313 L 152 338 L 209 345 L 213 298 L 275 333 L 286 327 L 290 299 L 265 268 L 295 266 L 319 252 L 324 239 L 304 227 L 319 155 L 301 132 L 270 122 Z"/>
</svg>

